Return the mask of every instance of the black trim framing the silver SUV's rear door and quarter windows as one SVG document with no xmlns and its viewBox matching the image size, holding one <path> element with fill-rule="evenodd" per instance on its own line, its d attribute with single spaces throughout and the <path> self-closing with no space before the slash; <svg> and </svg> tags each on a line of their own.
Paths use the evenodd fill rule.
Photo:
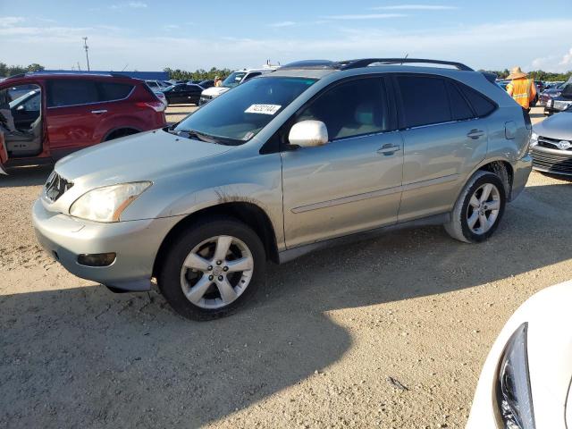
<svg viewBox="0 0 572 429">
<path fill-rule="evenodd" d="M 471 109 L 471 111 L 473 112 L 473 114 L 475 116 L 473 118 L 469 118 L 469 119 L 458 119 L 458 120 L 451 120 L 451 121 L 445 121 L 445 122 L 425 123 L 424 125 L 416 125 L 415 127 L 408 127 L 406 119 L 405 119 L 405 108 L 403 106 L 403 98 L 401 97 L 400 85 L 397 81 L 397 78 L 400 76 L 433 78 L 433 79 L 441 79 L 441 80 L 444 80 L 445 82 L 449 82 L 451 85 L 455 86 L 455 88 L 458 89 L 458 92 L 460 93 L 461 97 L 463 97 L 463 99 L 467 102 L 467 105 L 469 106 L 469 108 Z M 445 125 L 445 124 L 449 124 L 449 123 L 476 121 L 478 119 L 483 119 L 483 118 L 490 116 L 491 114 L 496 112 L 497 109 L 499 108 L 499 105 L 497 103 L 495 103 L 491 98 L 485 96 L 481 91 L 479 91 L 475 88 L 471 88 L 467 84 L 460 82 L 458 80 L 452 79 L 449 76 L 442 76 L 441 74 L 392 72 L 391 73 L 391 83 L 393 86 L 393 91 L 395 92 L 395 101 L 396 101 L 396 108 L 398 111 L 398 122 L 399 122 L 398 130 L 400 130 L 400 131 L 417 130 L 419 128 L 434 127 L 436 125 Z M 477 115 L 476 111 L 475 111 L 475 106 L 473 106 L 473 104 L 469 102 L 469 100 L 465 96 L 465 93 L 463 92 L 462 88 L 459 88 L 459 85 L 464 85 L 467 88 L 471 88 L 472 90 L 477 92 L 481 97 L 484 97 L 487 101 L 489 101 L 492 105 L 494 105 L 494 109 L 492 109 L 492 111 L 489 114 L 485 114 L 484 116 Z M 451 107 L 449 89 L 447 89 L 446 92 L 447 92 L 447 99 L 449 100 L 449 106 Z M 452 118 L 452 116 L 453 116 L 452 112 L 450 112 L 450 114 L 451 114 L 451 118 Z"/>
</svg>

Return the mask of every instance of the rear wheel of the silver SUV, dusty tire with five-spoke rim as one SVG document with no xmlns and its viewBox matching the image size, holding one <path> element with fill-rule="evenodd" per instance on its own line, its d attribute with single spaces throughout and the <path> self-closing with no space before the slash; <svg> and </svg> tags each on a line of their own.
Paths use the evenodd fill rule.
<svg viewBox="0 0 572 429">
<path fill-rule="evenodd" d="M 499 176 L 478 171 L 461 191 L 445 231 L 459 241 L 487 240 L 501 223 L 506 205 L 505 187 Z"/>
</svg>

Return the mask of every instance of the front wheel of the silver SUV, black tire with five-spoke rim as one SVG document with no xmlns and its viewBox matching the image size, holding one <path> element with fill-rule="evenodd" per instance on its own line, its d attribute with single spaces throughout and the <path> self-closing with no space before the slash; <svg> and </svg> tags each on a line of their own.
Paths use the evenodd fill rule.
<svg viewBox="0 0 572 429">
<path fill-rule="evenodd" d="M 264 281 L 265 259 L 260 238 L 244 223 L 223 217 L 201 220 L 172 244 L 157 282 L 177 313 L 210 320 L 253 297 Z"/>
</svg>

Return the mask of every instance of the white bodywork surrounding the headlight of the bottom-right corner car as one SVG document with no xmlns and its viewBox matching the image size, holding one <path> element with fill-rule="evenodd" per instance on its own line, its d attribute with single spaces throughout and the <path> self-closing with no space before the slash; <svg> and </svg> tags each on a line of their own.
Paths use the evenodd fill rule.
<svg viewBox="0 0 572 429">
<path fill-rule="evenodd" d="M 566 429 L 567 397 L 572 378 L 572 282 L 541 290 L 517 309 L 502 328 L 484 363 L 467 428 L 496 427 L 492 390 L 509 337 L 528 323 L 528 366 L 538 429 Z M 572 405 L 569 402 L 568 405 Z"/>
</svg>

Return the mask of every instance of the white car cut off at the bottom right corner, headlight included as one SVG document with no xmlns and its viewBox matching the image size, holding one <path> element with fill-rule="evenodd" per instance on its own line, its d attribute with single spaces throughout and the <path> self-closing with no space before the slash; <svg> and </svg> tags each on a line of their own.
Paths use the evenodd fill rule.
<svg viewBox="0 0 572 429">
<path fill-rule="evenodd" d="M 484 363 L 467 429 L 572 427 L 572 282 L 517 309 Z"/>
</svg>

